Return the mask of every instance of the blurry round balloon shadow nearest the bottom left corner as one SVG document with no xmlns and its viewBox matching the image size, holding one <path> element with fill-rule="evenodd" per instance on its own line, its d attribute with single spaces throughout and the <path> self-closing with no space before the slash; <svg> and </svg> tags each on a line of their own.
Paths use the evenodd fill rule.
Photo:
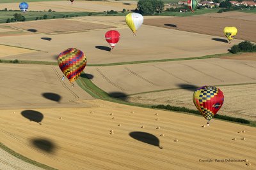
<svg viewBox="0 0 256 170">
<path fill-rule="evenodd" d="M 54 153 L 56 150 L 56 145 L 49 139 L 41 139 L 41 138 L 31 139 L 31 144 L 36 148 L 47 153 Z"/>
</svg>

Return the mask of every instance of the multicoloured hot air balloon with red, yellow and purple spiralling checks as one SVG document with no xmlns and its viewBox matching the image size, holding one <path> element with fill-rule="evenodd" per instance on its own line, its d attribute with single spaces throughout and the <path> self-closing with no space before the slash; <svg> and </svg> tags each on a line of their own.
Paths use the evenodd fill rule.
<svg viewBox="0 0 256 170">
<path fill-rule="evenodd" d="M 70 83 L 76 81 L 86 66 L 86 56 L 81 50 L 68 48 L 60 53 L 58 64 Z M 72 83 L 72 86 L 74 84 Z"/>
</svg>

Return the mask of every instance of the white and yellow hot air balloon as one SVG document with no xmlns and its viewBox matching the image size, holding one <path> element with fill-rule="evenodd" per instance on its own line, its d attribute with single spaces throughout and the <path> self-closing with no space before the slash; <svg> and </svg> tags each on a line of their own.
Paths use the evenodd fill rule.
<svg viewBox="0 0 256 170">
<path fill-rule="evenodd" d="M 143 24 L 143 16 L 140 13 L 129 13 L 125 17 L 125 22 L 128 27 L 132 30 L 134 36 L 136 35 L 136 31 Z"/>
</svg>

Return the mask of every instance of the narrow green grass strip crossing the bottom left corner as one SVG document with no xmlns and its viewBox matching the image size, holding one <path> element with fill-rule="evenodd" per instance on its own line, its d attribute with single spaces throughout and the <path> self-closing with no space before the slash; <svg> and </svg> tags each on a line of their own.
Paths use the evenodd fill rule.
<svg viewBox="0 0 256 170">
<path fill-rule="evenodd" d="M 20 155 L 19 153 L 11 150 L 10 148 L 6 147 L 5 145 L 3 145 L 3 143 L 0 143 L 0 148 L 2 148 L 3 150 L 5 150 L 6 152 L 10 153 L 11 155 L 17 157 L 18 159 L 21 159 L 21 160 L 24 160 L 25 162 L 28 162 L 29 164 L 32 164 L 34 166 L 38 166 L 38 167 L 42 167 L 43 169 L 49 169 L 49 170 L 56 170 L 55 168 L 53 167 L 49 167 L 45 164 L 41 164 L 39 162 L 36 162 L 35 160 L 31 160 L 27 157 L 24 157 L 22 155 Z"/>
</svg>

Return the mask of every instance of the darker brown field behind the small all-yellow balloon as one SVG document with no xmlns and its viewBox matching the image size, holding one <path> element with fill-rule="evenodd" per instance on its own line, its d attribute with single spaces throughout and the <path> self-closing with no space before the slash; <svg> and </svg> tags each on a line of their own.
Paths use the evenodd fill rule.
<svg viewBox="0 0 256 170">
<path fill-rule="evenodd" d="M 256 17 L 255 14 L 253 15 Z M 252 18 L 251 16 L 249 17 Z M 256 32 L 254 31 L 256 20 L 246 20 L 244 16 L 243 18 L 228 18 L 227 16 L 220 18 L 202 16 L 158 18 L 146 19 L 143 24 L 223 37 L 223 39 L 214 38 L 213 41 L 225 41 L 223 29 L 227 26 L 234 26 L 238 29 L 237 39 L 256 42 Z"/>
</svg>

